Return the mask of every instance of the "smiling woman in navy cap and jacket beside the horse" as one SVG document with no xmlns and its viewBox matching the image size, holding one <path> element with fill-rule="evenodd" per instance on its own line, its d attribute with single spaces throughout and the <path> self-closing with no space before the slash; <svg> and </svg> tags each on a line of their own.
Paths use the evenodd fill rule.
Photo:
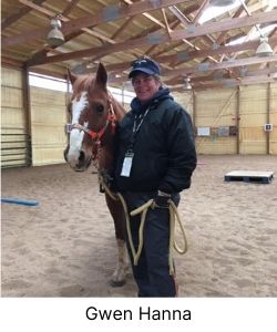
<svg viewBox="0 0 277 332">
<path fill-rule="evenodd" d="M 150 58 L 133 62 L 129 77 L 136 96 L 117 133 L 115 186 L 129 211 L 154 198 L 138 263 L 132 262 L 138 297 L 176 297 L 168 267 L 168 199 L 178 204 L 179 193 L 189 188 L 196 167 L 191 117 L 163 87 L 160 75 L 160 65 Z M 131 217 L 135 249 L 140 222 L 140 217 Z"/>
</svg>

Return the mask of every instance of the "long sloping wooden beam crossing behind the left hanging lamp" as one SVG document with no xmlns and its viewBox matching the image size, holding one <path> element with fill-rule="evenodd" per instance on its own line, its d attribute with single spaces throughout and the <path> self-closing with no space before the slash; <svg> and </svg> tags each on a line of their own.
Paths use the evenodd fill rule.
<svg viewBox="0 0 277 332">
<path fill-rule="evenodd" d="M 19 0 L 19 1 L 24 1 L 25 3 L 28 3 L 27 0 Z M 168 6 L 181 3 L 181 2 L 188 2 L 188 1 L 191 1 L 191 0 L 183 0 L 183 1 L 182 0 L 160 0 L 158 2 L 145 0 L 145 1 L 135 2 L 129 7 L 110 6 L 110 7 L 105 7 L 99 13 L 95 13 L 93 15 L 88 15 L 88 17 L 83 17 L 80 19 L 70 20 L 68 23 L 63 24 L 61 30 L 62 30 L 63 34 L 66 34 L 66 33 L 71 33 L 73 31 L 76 31 L 76 30 L 80 30 L 80 29 L 83 29 L 86 27 L 96 25 L 96 24 L 101 24 L 101 23 L 104 23 L 107 21 L 119 20 L 119 19 L 125 18 L 125 17 L 132 17 L 132 15 L 141 14 L 144 12 L 153 11 L 153 10 L 156 10 L 160 8 L 168 7 Z M 31 6 L 31 3 L 29 3 L 29 6 Z M 110 11 L 112 11 L 114 13 L 113 15 L 111 15 L 111 14 L 109 15 L 109 9 L 110 9 Z M 48 28 L 43 28 L 40 30 L 35 30 L 35 31 L 31 30 L 31 31 L 27 31 L 22 34 L 3 38 L 2 46 L 16 45 L 19 43 L 27 43 L 31 40 L 44 38 L 45 34 L 49 32 L 49 29 L 50 28 L 48 27 Z"/>
</svg>

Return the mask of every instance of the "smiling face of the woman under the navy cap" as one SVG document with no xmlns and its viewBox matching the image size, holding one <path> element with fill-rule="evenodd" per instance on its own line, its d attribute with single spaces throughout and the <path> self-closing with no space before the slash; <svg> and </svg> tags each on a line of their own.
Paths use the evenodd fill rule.
<svg viewBox="0 0 277 332">
<path fill-rule="evenodd" d="M 146 103 L 158 91 L 161 82 L 154 76 L 147 75 L 143 72 L 137 73 L 132 80 L 136 97 Z"/>
</svg>

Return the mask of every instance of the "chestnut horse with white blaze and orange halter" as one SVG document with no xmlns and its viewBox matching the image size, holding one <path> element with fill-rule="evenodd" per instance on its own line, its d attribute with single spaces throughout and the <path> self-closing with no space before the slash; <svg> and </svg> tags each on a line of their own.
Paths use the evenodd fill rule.
<svg viewBox="0 0 277 332">
<path fill-rule="evenodd" d="M 102 63 L 96 75 L 75 75 L 69 71 L 72 96 L 69 103 L 71 124 L 69 145 L 64 151 L 66 163 L 74 170 L 85 170 L 94 160 L 98 173 L 109 179 L 114 162 L 114 131 L 125 114 L 123 106 L 106 87 L 107 73 Z M 123 286 L 127 271 L 125 247 L 125 217 L 120 200 L 105 193 L 105 200 L 114 220 L 119 259 L 111 284 Z"/>
</svg>

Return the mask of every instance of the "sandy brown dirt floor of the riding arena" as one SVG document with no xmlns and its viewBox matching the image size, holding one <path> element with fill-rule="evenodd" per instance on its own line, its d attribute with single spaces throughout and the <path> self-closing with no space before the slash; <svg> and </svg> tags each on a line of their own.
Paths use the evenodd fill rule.
<svg viewBox="0 0 277 332">
<path fill-rule="evenodd" d="M 277 156 L 199 156 L 179 214 L 189 249 L 175 255 L 181 297 L 277 297 L 277 179 L 224 181 L 232 170 L 277 174 Z M 2 297 L 135 297 L 112 288 L 114 229 L 96 175 L 68 165 L 2 170 Z"/>
</svg>

